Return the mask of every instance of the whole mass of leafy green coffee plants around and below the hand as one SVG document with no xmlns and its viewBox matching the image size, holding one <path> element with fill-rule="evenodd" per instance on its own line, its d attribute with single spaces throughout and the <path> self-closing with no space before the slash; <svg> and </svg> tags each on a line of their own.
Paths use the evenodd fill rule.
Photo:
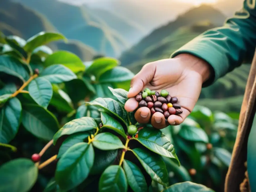
<svg viewBox="0 0 256 192">
<path fill-rule="evenodd" d="M 139 124 L 124 109 L 134 74 L 114 58 L 52 51 L 57 40 L 67 41 L 0 33 L 1 192 L 212 192 L 223 183 L 230 116 L 198 106 L 179 126 Z"/>
</svg>

